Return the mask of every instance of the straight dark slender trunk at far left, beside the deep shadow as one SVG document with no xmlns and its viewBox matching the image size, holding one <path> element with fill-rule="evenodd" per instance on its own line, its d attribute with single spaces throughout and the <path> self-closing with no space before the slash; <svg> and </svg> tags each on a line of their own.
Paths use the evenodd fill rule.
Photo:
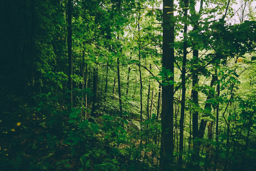
<svg viewBox="0 0 256 171">
<path fill-rule="evenodd" d="M 72 56 L 72 0 L 68 0 L 68 59 L 69 59 L 69 80 L 70 103 L 73 103 L 73 56 Z"/>
</svg>

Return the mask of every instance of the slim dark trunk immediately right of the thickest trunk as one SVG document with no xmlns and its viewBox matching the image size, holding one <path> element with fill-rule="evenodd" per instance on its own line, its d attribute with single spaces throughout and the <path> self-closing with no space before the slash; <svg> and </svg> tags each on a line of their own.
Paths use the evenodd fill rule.
<svg viewBox="0 0 256 171">
<path fill-rule="evenodd" d="M 188 0 L 184 1 L 184 17 L 187 17 Z M 180 111 L 180 146 L 179 146 L 179 164 L 182 165 L 183 156 L 183 136 L 184 136 L 184 115 L 185 115 L 185 98 L 186 98 L 186 60 L 187 60 L 187 24 L 184 22 L 184 39 L 183 39 L 183 60 L 182 60 L 182 71 L 181 71 L 181 82 L 182 82 L 182 95 L 181 95 L 181 111 Z"/>
</svg>

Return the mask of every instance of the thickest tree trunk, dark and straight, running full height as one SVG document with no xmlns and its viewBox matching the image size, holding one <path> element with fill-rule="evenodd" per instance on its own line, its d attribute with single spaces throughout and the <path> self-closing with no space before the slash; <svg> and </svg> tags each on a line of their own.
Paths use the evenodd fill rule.
<svg viewBox="0 0 256 171">
<path fill-rule="evenodd" d="M 173 73 L 167 76 L 174 80 L 174 1 L 163 0 L 163 56 L 162 68 Z M 172 47 L 170 47 L 172 46 Z M 173 164 L 173 122 L 174 122 L 174 84 L 162 87 L 162 113 L 161 113 L 161 151 L 160 170 L 172 170 Z"/>
</svg>

